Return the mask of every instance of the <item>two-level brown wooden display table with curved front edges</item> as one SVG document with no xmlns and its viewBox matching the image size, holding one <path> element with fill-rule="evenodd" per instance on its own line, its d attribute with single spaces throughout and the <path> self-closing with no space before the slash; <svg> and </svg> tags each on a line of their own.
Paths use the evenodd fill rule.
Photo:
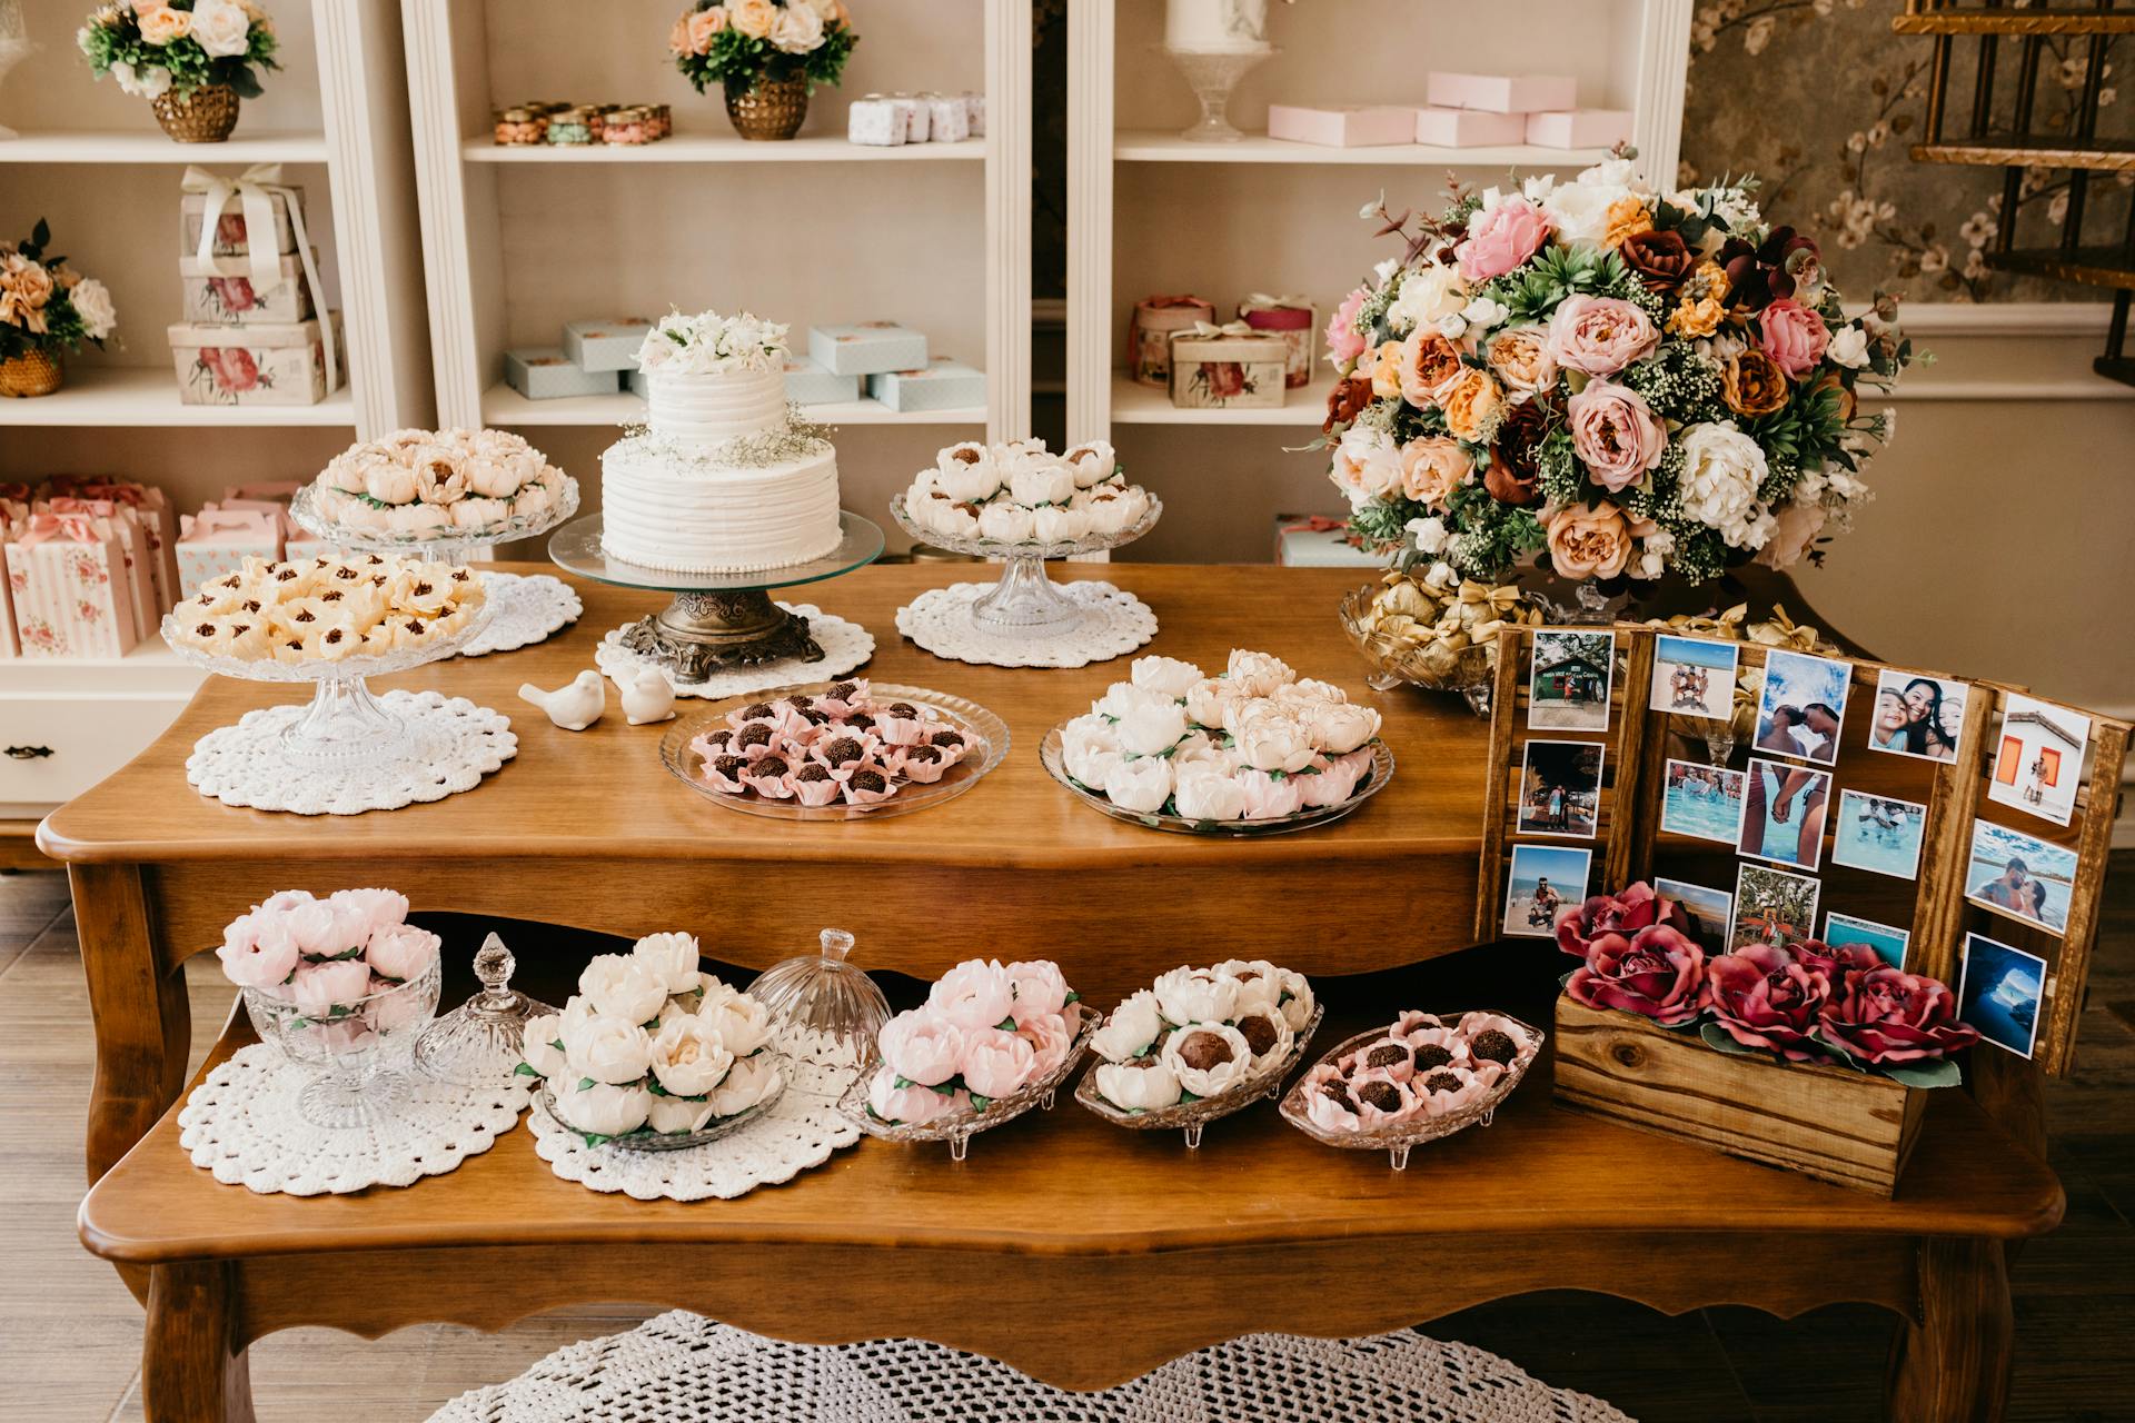
<svg viewBox="0 0 2135 1423">
<path fill-rule="evenodd" d="M 1362 695 L 1332 623 L 1356 574 L 1100 572 L 1157 610 L 1149 651 L 1211 666 L 1243 642 Z M 1322 977 L 1324 1041 L 1398 1005 L 1494 1003 L 1548 1022 L 1561 964 L 1546 945 L 1396 969 L 1467 941 L 1484 725 L 1452 700 L 1371 698 L 1398 770 L 1341 826 L 1253 843 L 1140 832 L 1074 804 L 1035 757 L 1042 732 L 1125 663 L 1006 672 L 927 657 L 895 638 L 892 612 L 942 580 L 939 567 L 873 567 L 820 591 L 882 638 L 875 681 L 971 695 L 1012 730 L 993 777 L 912 817 L 796 828 L 730 815 L 660 768 L 658 728 L 611 708 L 574 736 L 515 702 L 521 681 L 568 681 L 602 631 L 653 606 L 587 587 L 570 634 L 404 678 L 512 713 L 519 757 L 476 792 L 333 821 L 203 802 L 184 787 L 186 749 L 278 700 L 211 683 L 139 762 L 45 824 L 43 843 L 70 864 L 98 1033 L 81 1231 L 145 1289 L 152 1419 L 248 1417 L 246 1344 L 314 1323 L 502 1327 L 634 1299 L 792 1340 L 922 1336 L 1100 1387 L 1249 1329 L 1343 1336 L 1556 1286 L 1672 1312 L 1877 1301 L 1907 1318 L 1892 1417 L 1998 1412 L 2000 1242 L 2052 1229 L 2062 1195 L 1954 1092 L 1936 1094 L 1894 1201 L 1554 1112 L 1548 1065 L 1497 1126 L 1418 1152 L 1405 1173 L 1319 1148 L 1270 1109 L 1213 1126 L 1189 1154 L 1065 1101 L 982 1137 L 963 1165 L 863 1141 L 788 1186 L 694 1205 L 559 1182 L 523 1129 L 450 1176 L 363 1197 L 254 1197 L 186 1161 L 171 1112 L 186 1060 L 177 964 L 284 885 L 389 883 L 421 909 L 632 937 L 690 928 L 747 966 L 841 924 L 869 966 L 914 975 L 969 954 L 1046 954 L 1093 1003 L 1183 960 L 1251 952 Z M 1364 977 L 1328 977 L 1347 973 Z M 233 1022 L 213 1060 L 248 1037 Z M 348 1286 L 318 1289 L 325 1278 Z"/>
</svg>

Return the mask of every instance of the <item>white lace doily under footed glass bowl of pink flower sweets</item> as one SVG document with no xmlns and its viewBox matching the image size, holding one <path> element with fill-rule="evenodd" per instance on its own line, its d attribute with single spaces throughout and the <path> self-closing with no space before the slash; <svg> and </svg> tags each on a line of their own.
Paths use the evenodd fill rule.
<svg viewBox="0 0 2135 1423">
<path fill-rule="evenodd" d="M 523 1086 L 491 1092 L 401 1071 L 410 1090 L 395 1116 L 327 1131 L 297 1116 L 297 1094 L 314 1069 L 290 1062 L 271 1043 L 250 1043 L 192 1088 L 177 1114 L 177 1141 L 192 1165 L 226 1186 L 339 1195 L 442 1176 L 487 1152 L 527 1105 Z"/>
</svg>

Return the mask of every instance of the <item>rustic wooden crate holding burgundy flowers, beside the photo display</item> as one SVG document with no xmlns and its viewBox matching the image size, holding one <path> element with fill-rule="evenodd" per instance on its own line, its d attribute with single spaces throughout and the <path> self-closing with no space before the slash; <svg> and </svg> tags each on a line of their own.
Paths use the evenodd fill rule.
<svg viewBox="0 0 2135 1423">
<path fill-rule="evenodd" d="M 1556 1103 L 1889 1199 L 1932 1088 L 1734 1056 L 1695 1033 L 1556 998 Z"/>
</svg>

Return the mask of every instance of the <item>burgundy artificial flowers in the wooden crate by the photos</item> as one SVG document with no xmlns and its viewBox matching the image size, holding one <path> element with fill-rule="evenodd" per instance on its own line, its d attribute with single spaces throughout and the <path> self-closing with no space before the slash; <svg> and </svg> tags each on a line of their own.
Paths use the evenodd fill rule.
<svg viewBox="0 0 2135 1423">
<path fill-rule="evenodd" d="M 1719 1052 L 1770 1052 L 1939 1088 L 1958 1084 L 1949 1054 L 1979 1041 L 1958 1022 L 1949 984 L 1894 969 L 1866 945 L 1746 943 L 1708 958 L 1682 905 L 1648 883 L 1565 909 L 1556 945 L 1584 960 L 1565 977 L 1576 1003 L 1695 1026 Z"/>
</svg>

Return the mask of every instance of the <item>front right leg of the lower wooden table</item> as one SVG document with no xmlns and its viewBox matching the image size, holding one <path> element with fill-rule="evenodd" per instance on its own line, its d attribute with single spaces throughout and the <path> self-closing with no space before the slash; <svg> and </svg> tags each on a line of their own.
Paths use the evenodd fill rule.
<svg viewBox="0 0 2135 1423">
<path fill-rule="evenodd" d="M 1892 1348 L 1883 1417 L 1894 1423 L 1996 1423 L 2009 1402 L 2015 1314 L 1996 1240 L 1919 1242 L 1919 1318 Z"/>
</svg>

